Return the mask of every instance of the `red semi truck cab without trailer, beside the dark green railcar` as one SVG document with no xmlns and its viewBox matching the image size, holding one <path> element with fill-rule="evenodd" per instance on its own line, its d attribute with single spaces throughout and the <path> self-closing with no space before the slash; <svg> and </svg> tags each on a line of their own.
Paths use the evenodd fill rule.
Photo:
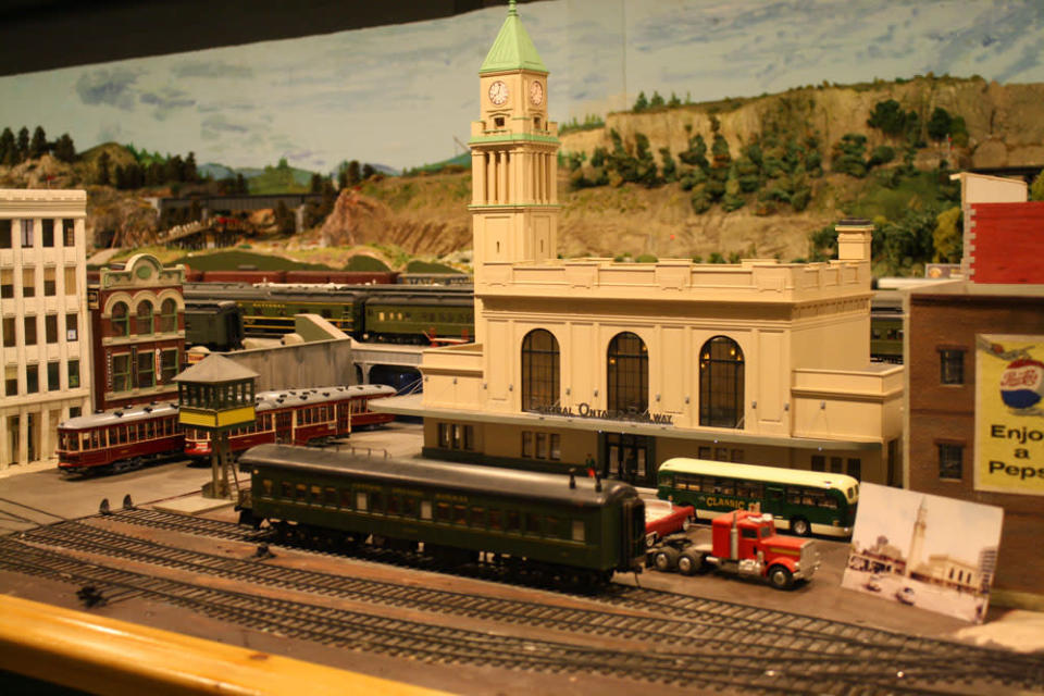
<svg viewBox="0 0 1044 696">
<path fill-rule="evenodd" d="M 776 589 L 808 580 L 819 568 L 816 542 L 775 533 L 771 514 L 748 510 L 725 512 L 711 524 L 711 543 L 694 544 L 674 534 L 651 547 L 646 566 L 695 575 L 717 569 L 734 575 L 765 577 Z"/>
</svg>

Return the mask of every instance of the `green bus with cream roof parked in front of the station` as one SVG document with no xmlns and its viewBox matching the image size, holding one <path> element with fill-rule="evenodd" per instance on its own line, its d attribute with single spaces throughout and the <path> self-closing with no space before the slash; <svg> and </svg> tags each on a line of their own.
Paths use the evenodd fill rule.
<svg viewBox="0 0 1044 696">
<path fill-rule="evenodd" d="M 657 495 L 693 506 L 704 520 L 756 510 L 771 513 L 776 526 L 799 536 L 850 537 L 859 482 L 845 474 L 675 457 L 657 473 Z"/>
</svg>

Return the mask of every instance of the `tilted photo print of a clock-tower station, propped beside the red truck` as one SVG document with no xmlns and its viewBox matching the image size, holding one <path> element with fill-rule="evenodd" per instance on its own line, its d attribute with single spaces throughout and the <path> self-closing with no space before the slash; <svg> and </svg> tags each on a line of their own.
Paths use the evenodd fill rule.
<svg viewBox="0 0 1044 696">
<path fill-rule="evenodd" d="M 842 586 L 981 623 L 1004 511 L 863 483 Z"/>
</svg>

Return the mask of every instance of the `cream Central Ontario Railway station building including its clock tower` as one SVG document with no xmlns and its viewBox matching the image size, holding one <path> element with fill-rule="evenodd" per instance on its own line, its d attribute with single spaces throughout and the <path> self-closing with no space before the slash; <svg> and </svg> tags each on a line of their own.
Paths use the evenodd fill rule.
<svg viewBox="0 0 1044 696">
<path fill-rule="evenodd" d="M 424 453 L 639 485 L 676 456 L 902 484 L 902 366 L 872 364 L 870 237 L 825 263 L 558 258 L 557 124 L 511 3 L 472 124 L 476 343 L 424 351 Z"/>
</svg>

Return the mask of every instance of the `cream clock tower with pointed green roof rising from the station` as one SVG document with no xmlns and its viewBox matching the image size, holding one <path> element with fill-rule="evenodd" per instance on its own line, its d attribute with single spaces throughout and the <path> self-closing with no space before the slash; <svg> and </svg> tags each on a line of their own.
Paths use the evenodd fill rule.
<svg viewBox="0 0 1044 696">
<path fill-rule="evenodd" d="M 478 71 L 478 98 L 469 142 L 476 296 L 490 264 L 558 256 L 558 124 L 547 121 L 547 69 L 514 0 Z"/>
</svg>

